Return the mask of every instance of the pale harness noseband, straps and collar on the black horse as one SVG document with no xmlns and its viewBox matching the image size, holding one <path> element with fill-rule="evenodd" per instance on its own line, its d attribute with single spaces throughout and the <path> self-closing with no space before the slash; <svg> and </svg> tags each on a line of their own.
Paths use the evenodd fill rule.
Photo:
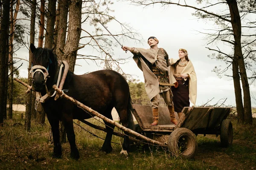
<svg viewBox="0 0 256 170">
<path fill-rule="evenodd" d="M 59 71 L 58 71 L 58 79 L 57 79 L 57 87 L 59 87 L 61 90 L 63 88 L 65 79 L 67 77 L 67 73 L 68 73 L 68 64 L 66 61 L 59 61 L 59 63 L 61 64 Z M 61 78 L 61 72 L 62 72 L 62 68 L 64 67 L 64 72 Z M 34 71 L 35 70 L 35 71 Z M 45 84 L 45 90 L 46 90 L 46 94 L 44 96 L 41 96 L 41 92 L 36 92 L 36 99 L 35 99 L 35 110 L 37 110 L 37 105 L 39 104 L 39 102 L 44 103 L 46 102 L 49 98 L 55 96 L 56 91 L 54 91 L 54 93 L 52 95 L 50 95 L 50 92 L 48 91 L 47 85 L 46 85 L 46 81 L 47 81 L 47 77 L 49 77 L 49 73 L 47 71 L 47 69 L 44 66 L 41 65 L 35 65 L 31 68 L 31 70 L 29 71 L 32 80 L 34 80 L 34 74 L 39 71 L 41 73 L 43 73 L 44 75 L 44 84 Z M 55 100 L 57 100 L 59 98 L 59 95 L 56 94 L 55 96 Z"/>
</svg>

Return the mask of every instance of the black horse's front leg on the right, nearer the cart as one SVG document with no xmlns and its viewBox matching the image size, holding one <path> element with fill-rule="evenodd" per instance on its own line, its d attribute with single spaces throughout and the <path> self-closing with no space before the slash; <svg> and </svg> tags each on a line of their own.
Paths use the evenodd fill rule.
<svg viewBox="0 0 256 170">
<path fill-rule="evenodd" d="M 63 119 L 64 127 L 67 133 L 67 139 L 68 142 L 70 143 L 70 157 L 72 159 L 79 159 L 79 151 L 76 147 L 76 136 L 74 132 L 74 126 L 73 126 L 73 117 L 72 115 L 69 115 L 67 113 L 64 113 Z"/>
</svg>

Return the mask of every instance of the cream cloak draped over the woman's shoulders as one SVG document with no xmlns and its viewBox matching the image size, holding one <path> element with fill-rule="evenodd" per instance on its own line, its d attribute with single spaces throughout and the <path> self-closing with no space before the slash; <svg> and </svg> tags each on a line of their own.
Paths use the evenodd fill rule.
<svg viewBox="0 0 256 170">
<path fill-rule="evenodd" d="M 178 60 L 179 59 L 172 59 L 172 58 L 169 60 L 171 63 L 171 73 L 172 74 L 174 74 L 175 63 Z M 197 78 L 196 78 L 195 69 L 191 62 L 191 59 L 189 59 L 188 64 L 185 66 L 185 68 L 183 69 L 181 74 L 189 74 L 189 99 L 190 99 L 190 102 L 192 102 L 193 105 L 195 105 L 196 96 L 197 96 Z M 184 80 L 186 81 L 186 78 Z"/>
</svg>

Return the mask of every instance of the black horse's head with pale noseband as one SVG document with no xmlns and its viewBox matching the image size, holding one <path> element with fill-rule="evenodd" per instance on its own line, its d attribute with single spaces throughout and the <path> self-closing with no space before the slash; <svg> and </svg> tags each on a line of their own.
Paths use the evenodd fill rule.
<svg viewBox="0 0 256 170">
<path fill-rule="evenodd" d="M 32 88 L 35 91 L 43 91 L 46 85 L 52 85 L 58 63 L 53 49 L 35 48 L 34 44 L 30 45 L 33 57 L 32 68 L 29 72 L 32 77 Z"/>
</svg>

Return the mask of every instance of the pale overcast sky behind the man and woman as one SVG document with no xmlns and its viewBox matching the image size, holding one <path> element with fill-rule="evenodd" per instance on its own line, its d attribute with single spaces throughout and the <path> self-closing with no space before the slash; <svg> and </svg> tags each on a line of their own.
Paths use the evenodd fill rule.
<svg viewBox="0 0 256 170">
<path fill-rule="evenodd" d="M 169 54 L 169 58 L 178 58 L 178 50 L 184 48 L 188 51 L 189 59 L 191 59 L 195 72 L 197 74 L 198 94 L 196 105 L 203 105 L 209 100 L 209 104 L 215 104 L 219 100 L 226 99 L 225 105 L 235 106 L 235 94 L 233 87 L 233 80 L 230 77 L 222 76 L 219 78 L 214 72 L 212 72 L 215 66 L 225 66 L 224 62 L 210 59 L 207 55 L 214 53 L 209 51 L 206 47 L 221 48 L 229 53 L 231 51 L 230 46 L 224 42 L 207 45 L 207 40 L 204 34 L 198 34 L 198 31 L 204 31 L 206 29 L 215 28 L 214 23 L 206 22 L 192 16 L 192 9 L 169 6 L 163 8 L 159 5 L 154 7 L 149 6 L 143 8 L 142 6 L 134 6 L 128 2 L 117 1 L 110 6 L 114 9 L 112 13 L 117 20 L 122 23 L 128 23 L 138 33 L 141 34 L 144 41 L 141 43 L 135 42 L 135 40 L 120 40 L 122 45 L 139 48 L 149 48 L 147 44 L 148 37 L 154 36 L 159 40 L 158 47 L 164 48 Z M 111 21 L 107 25 L 108 30 L 112 34 L 119 33 L 121 28 L 118 23 Z M 102 29 L 104 29 L 102 27 Z M 107 34 L 107 31 L 104 31 Z M 110 37 L 111 38 L 111 37 Z M 113 39 L 113 38 L 112 38 Z M 116 43 L 115 40 L 112 40 Z M 136 63 L 132 59 L 132 54 L 128 51 L 125 53 L 120 46 L 113 48 L 114 58 L 128 58 L 124 65 L 120 65 L 122 70 L 126 74 L 132 74 L 134 78 L 140 79 L 144 82 L 143 72 L 137 67 Z M 79 50 L 79 54 L 87 54 L 88 48 L 82 48 Z M 94 51 L 90 51 L 94 52 Z M 19 51 L 18 57 L 28 59 L 28 50 L 23 49 Z M 27 77 L 28 63 L 20 61 L 17 65 L 23 62 L 23 66 L 20 69 L 20 75 Z M 95 65 L 91 61 L 84 61 L 82 59 L 77 60 L 76 64 L 81 66 L 75 67 L 75 74 L 84 74 L 90 71 L 101 70 L 102 67 Z M 231 73 L 231 70 L 228 71 Z M 255 85 L 250 86 L 252 93 L 256 93 Z M 252 105 L 255 105 L 252 103 Z"/>
</svg>

